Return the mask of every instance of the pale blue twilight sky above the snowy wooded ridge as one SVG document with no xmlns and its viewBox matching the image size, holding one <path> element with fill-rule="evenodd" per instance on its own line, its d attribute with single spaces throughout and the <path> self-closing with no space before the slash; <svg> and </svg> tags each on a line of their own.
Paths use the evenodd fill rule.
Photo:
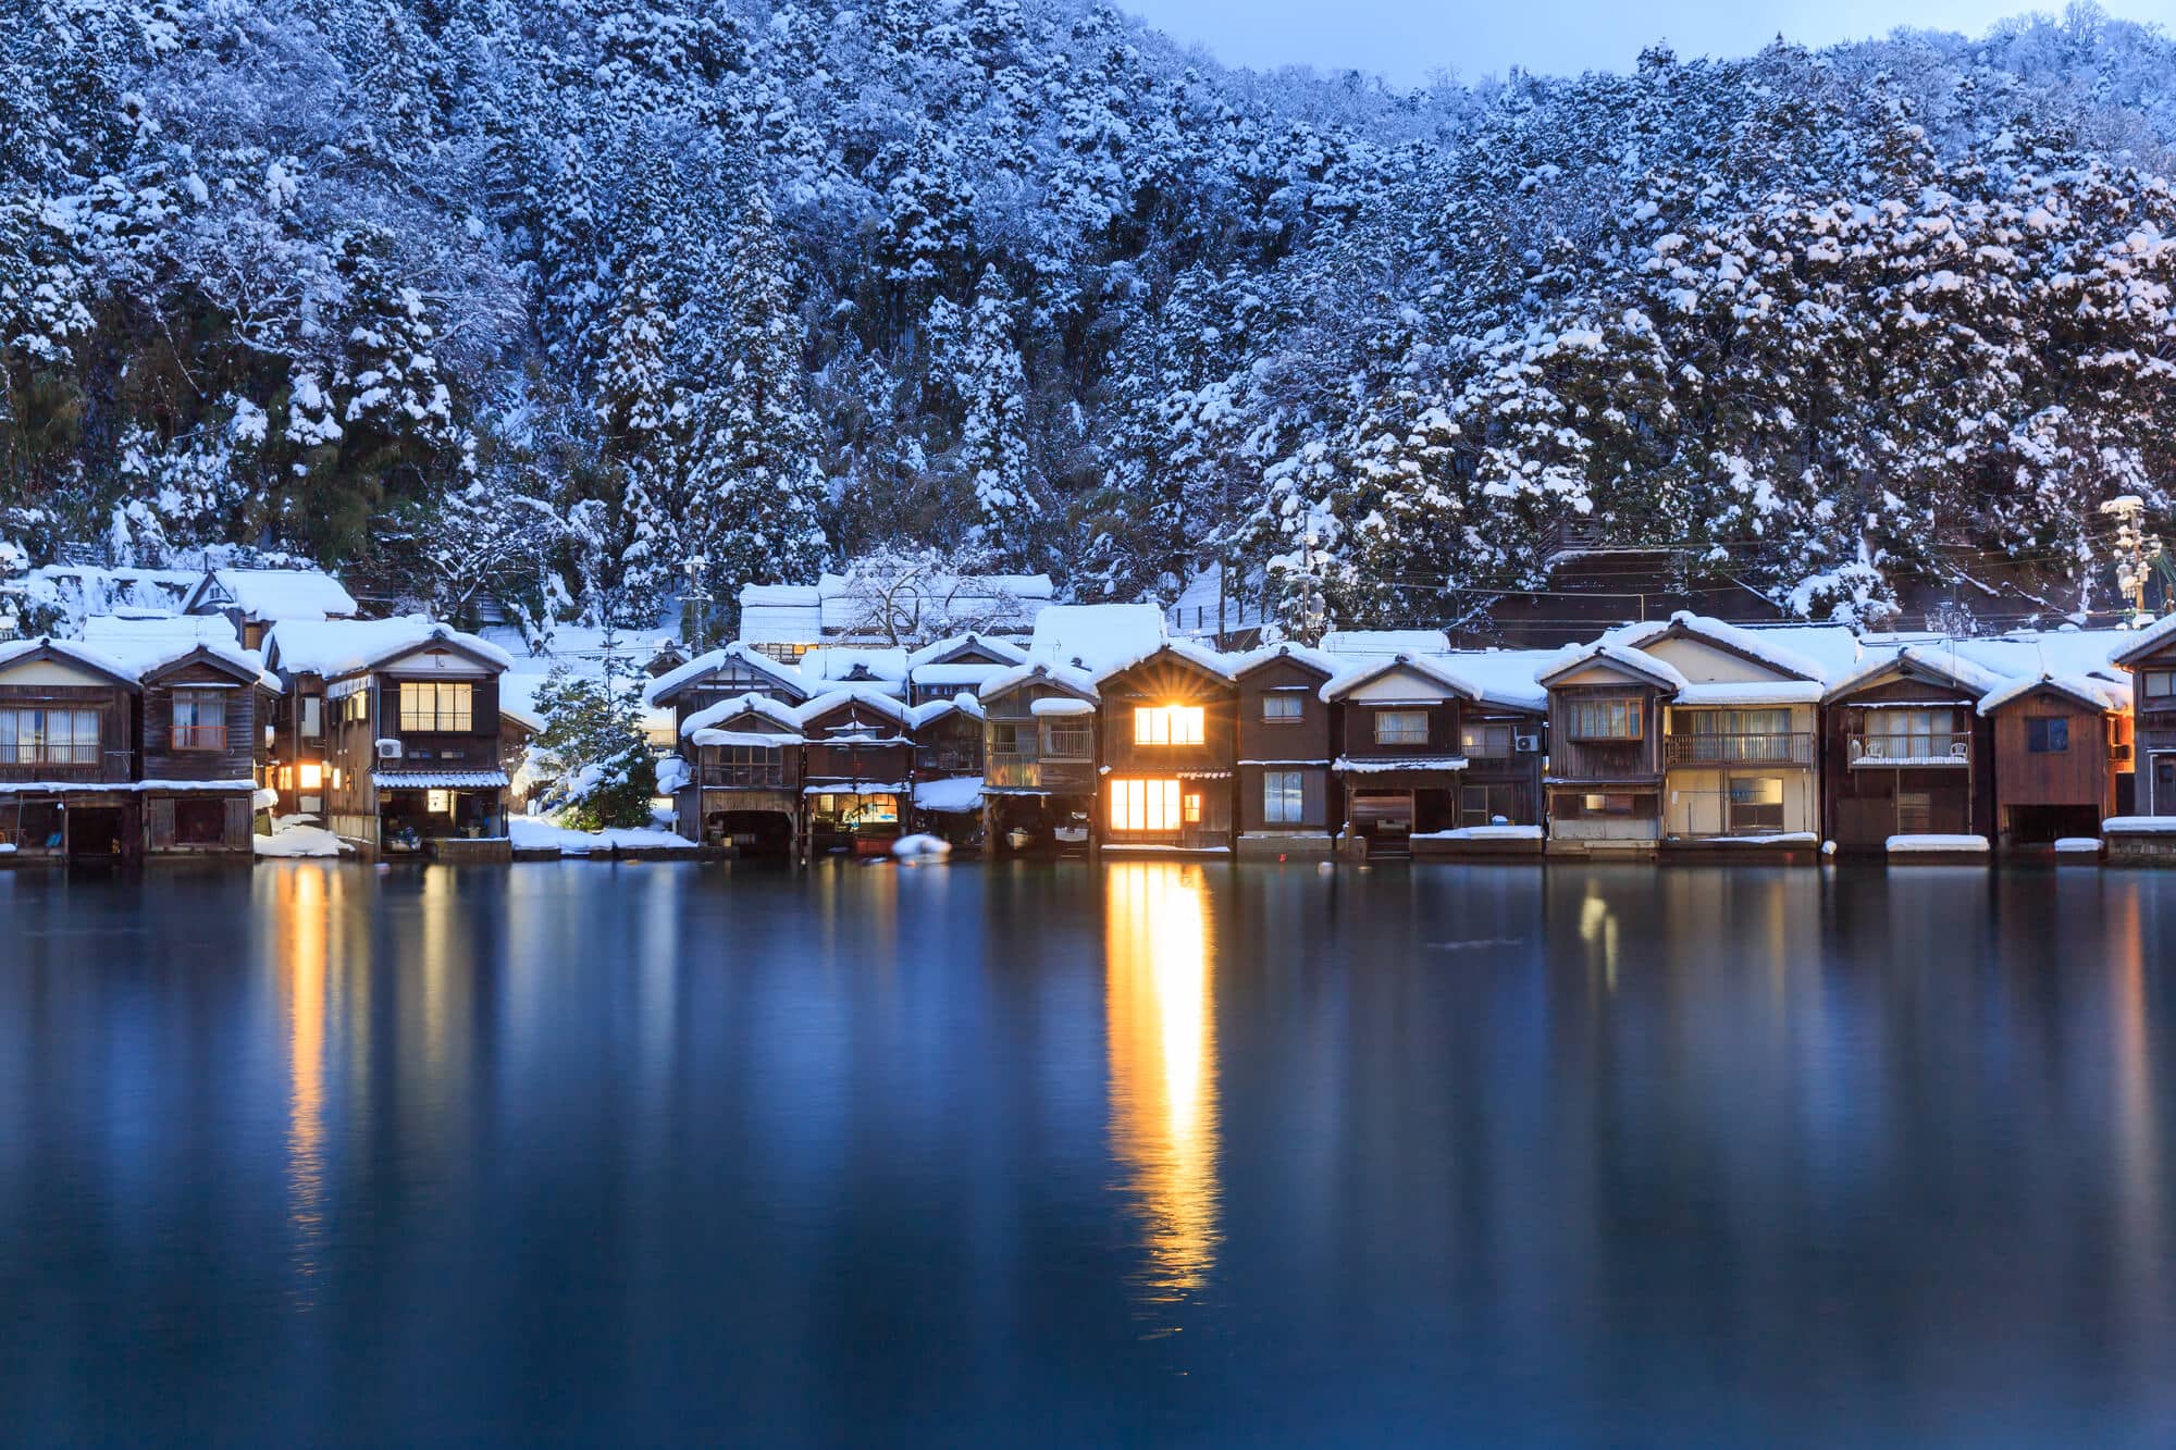
<svg viewBox="0 0 2176 1450">
<path fill-rule="evenodd" d="M 1219 61 L 1273 70 L 1358 67 L 1417 85 L 1434 70 L 1475 81 L 1512 65 L 1543 74 L 1628 70 L 1667 39 L 1682 57 L 1750 54 L 1784 39 L 1828 46 L 1897 26 L 1982 33 L 2061 4 L 2030 0 L 1121 0 Z M 2100 0 L 2124 20 L 2176 28 L 2176 0 Z"/>
</svg>

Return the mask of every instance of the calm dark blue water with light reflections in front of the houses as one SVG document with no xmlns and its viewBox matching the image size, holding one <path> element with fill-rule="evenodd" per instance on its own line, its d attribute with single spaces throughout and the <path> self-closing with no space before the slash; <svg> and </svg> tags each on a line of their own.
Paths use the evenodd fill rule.
<svg viewBox="0 0 2176 1450">
<path fill-rule="evenodd" d="M 0 1439 L 2169 1443 L 2176 873 L 0 873 Z"/>
</svg>

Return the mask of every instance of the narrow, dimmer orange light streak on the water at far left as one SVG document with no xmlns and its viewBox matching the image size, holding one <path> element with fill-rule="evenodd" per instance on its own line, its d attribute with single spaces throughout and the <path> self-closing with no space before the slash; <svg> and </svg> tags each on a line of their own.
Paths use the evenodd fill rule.
<svg viewBox="0 0 2176 1450">
<path fill-rule="evenodd" d="M 279 871 L 279 949 L 287 986 L 287 1228 L 302 1306 L 313 1298 L 324 1248 L 324 997 L 339 877 L 324 867 L 294 862 Z"/>
</svg>

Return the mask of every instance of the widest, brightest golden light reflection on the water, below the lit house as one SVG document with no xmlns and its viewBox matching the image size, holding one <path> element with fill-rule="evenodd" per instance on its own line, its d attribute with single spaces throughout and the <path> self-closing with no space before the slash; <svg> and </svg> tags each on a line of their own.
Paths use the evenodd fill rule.
<svg viewBox="0 0 2176 1450">
<path fill-rule="evenodd" d="M 1199 867 L 1118 862 L 1105 884 L 1110 1141 L 1142 1224 L 1142 1298 L 1169 1304 L 1216 1263 L 1216 1015 Z"/>
</svg>

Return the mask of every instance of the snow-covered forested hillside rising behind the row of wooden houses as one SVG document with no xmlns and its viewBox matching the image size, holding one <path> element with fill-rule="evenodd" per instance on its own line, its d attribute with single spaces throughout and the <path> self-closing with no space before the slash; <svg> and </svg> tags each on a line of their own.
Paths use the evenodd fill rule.
<svg viewBox="0 0 2176 1450">
<path fill-rule="evenodd" d="M 2087 11 L 1421 94 L 1068 0 L 15 13 L 0 577 L 270 544 L 648 623 L 692 557 L 927 544 L 1290 612 L 1312 529 L 1401 625 L 1575 518 L 2061 612 L 2104 499 L 2167 527 L 2176 46 Z"/>
</svg>

